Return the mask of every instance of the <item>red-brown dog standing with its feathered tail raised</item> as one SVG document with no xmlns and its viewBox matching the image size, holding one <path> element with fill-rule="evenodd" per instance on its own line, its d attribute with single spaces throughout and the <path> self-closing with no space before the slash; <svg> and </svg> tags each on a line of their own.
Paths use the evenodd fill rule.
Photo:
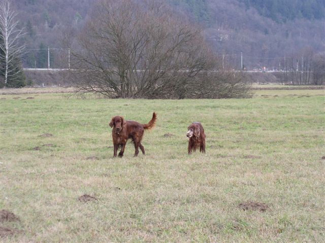
<svg viewBox="0 0 325 243">
<path fill-rule="evenodd" d="M 144 147 L 141 144 L 143 133 L 145 129 L 151 129 L 154 127 L 157 116 L 155 113 L 152 114 L 152 119 L 148 124 L 141 124 L 136 121 L 125 121 L 121 116 L 115 116 L 110 122 L 110 127 L 113 127 L 112 137 L 114 145 L 114 157 L 117 155 L 117 150 L 121 147 L 121 151 L 118 154 L 118 157 L 123 157 L 124 149 L 128 138 L 132 138 L 136 152 L 134 156 L 138 156 L 139 147 L 143 154 Z"/>
</svg>

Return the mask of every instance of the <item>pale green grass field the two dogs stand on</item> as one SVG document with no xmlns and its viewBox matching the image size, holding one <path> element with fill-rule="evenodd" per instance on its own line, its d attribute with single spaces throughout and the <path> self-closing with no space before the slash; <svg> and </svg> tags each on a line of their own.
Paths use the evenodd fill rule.
<svg viewBox="0 0 325 243">
<path fill-rule="evenodd" d="M 324 90 L 220 100 L 1 98 L 0 210 L 20 219 L 1 220 L 2 230 L 15 230 L 2 242 L 325 240 Z M 133 158 L 128 143 L 113 159 L 111 117 L 147 123 L 153 111 L 146 156 Z M 192 121 L 205 128 L 205 155 L 187 155 Z M 79 201 L 83 194 L 98 200 Z M 265 210 L 243 210 L 250 201 Z"/>
</svg>

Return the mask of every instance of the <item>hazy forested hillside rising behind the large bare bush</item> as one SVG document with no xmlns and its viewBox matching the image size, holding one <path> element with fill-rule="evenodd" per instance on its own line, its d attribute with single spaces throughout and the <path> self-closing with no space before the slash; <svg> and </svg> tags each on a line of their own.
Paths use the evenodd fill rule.
<svg viewBox="0 0 325 243">
<path fill-rule="evenodd" d="M 196 1 L 167 2 L 192 24 L 199 24 L 211 49 L 225 62 L 240 68 L 278 67 L 284 56 L 297 57 L 308 50 L 325 50 L 325 1 Z M 27 34 L 25 67 L 46 67 L 50 47 L 52 67 L 67 65 L 61 48 L 62 31 L 81 30 L 92 1 L 12 1 Z M 67 58 L 66 58 L 67 59 Z"/>
</svg>

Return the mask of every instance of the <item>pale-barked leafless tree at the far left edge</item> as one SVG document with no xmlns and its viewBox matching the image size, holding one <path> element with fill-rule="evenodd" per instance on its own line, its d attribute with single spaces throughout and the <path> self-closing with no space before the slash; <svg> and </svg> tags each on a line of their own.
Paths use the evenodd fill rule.
<svg viewBox="0 0 325 243">
<path fill-rule="evenodd" d="M 1 66 L 5 68 L 4 87 L 6 87 L 9 78 L 14 80 L 22 72 L 17 65 L 17 58 L 21 57 L 25 47 L 19 43 L 19 39 L 24 36 L 24 31 L 17 28 L 16 15 L 8 0 L 0 2 L 0 60 Z"/>
</svg>

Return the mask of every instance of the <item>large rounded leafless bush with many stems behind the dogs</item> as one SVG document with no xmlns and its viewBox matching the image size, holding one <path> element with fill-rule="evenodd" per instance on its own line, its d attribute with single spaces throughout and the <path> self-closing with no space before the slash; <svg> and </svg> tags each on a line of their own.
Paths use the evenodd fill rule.
<svg viewBox="0 0 325 243">
<path fill-rule="evenodd" d="M 203 80 L 217 83 L 219 62 L 201 31 L 163 2 L 99 2 L 77 41 L 66 43 L 79 92 L 185 98 L 209 90 Z"/>
</svg>

